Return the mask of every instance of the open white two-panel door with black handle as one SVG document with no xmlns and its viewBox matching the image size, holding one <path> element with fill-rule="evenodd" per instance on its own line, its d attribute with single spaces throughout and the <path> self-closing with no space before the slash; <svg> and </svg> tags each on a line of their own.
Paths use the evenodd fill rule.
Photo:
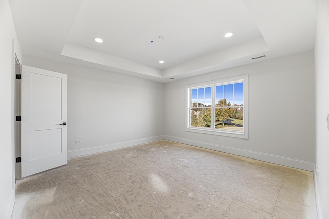
<svg viewBox="0 0 329 219">
<path fill-rule="evenodd" d="M 67 75 L 22 65 L 22 177 L 67 164 Z"/>
</svg>

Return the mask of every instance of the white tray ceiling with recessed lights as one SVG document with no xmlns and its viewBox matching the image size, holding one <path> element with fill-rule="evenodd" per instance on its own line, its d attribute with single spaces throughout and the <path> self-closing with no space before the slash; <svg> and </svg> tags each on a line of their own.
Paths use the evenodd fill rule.
<svg viewBox="0 0 329 219">
<path fill-rule="evenodd" d="M 23 56 L 158 82 L 312 50 L 318 7 L 317 0 L 9 2 Z"/>
</svg>

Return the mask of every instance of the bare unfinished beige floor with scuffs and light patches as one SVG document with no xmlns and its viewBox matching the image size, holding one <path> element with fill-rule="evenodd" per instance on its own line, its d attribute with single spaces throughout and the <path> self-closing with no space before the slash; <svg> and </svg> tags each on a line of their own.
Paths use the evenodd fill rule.
<svg viewBox="0 0 329 219">
<path fill-rule="evenodd" d="M 19 180 L 12 218 L 317 218 L 312 172 L 159 141 Z"/>
</svg>

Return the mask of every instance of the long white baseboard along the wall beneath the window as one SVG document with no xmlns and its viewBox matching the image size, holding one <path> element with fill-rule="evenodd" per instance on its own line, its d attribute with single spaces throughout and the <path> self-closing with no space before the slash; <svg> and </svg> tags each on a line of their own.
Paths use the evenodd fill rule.
<svg viewBox="0 0 329 219">
<path fill-rule="evenodd" d="M 180 137 L 174 137 L 174 136 L 164 136 L 165 140 L 173 141 L 173 142 L 179 142 L 183 144 L 193 145 L 197 147 L 207 148 L 215 151 L 221 151 L 224 153 L 230 153 L 234 155 L 244 156 L 253 158 L 260 161 L 270 162 L 274 164 L 280 164 L 288 167 L 294 167 L 302 170 L 307 171 L 314 171 L 314 164 L 307 161 L 301 161 L 289 157 L 283 157 L 283 156 L 277 156 L 272 154 L 266 154 L 266 153 L 260 153 L 255 151 L 248 151 L 248 150 L 242 150 L 237 148 L 231 148 L 223 145 L 215 145 L 210 143 L 204 143 L 194 140 L 188 140 L 186 138 L 180 138 Z"/>
</svg>

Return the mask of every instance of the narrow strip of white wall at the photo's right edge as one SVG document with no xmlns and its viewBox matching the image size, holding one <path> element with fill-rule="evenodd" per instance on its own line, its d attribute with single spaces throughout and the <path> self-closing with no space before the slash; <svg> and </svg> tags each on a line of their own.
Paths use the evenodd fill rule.
<svg viewBox="0 0 329 219">
<path fill-rule="evenodd" d="M 319 1 L 318 26 L 315 43 L 316 83 L 316 165 L 319 177 L 316 184 L 323 218 L 329 218 L 329 130 L 326 114 L 329 113 L 329 1 Z M 319 200 L 318 200 L 319 201 Z M 319 202 L 318 202 L 319 204 Z"/>
</svg>

